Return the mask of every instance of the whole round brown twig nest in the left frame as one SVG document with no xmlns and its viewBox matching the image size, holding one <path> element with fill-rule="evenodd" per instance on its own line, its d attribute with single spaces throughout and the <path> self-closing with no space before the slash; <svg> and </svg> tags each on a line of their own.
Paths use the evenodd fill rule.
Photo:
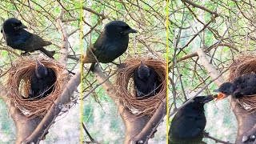
<svg viewBox="0 0 256 144">
<path fill-rule="evenodd" d="M 68 81 L 68 74 L 63 74 L 64 66 L 53 60 L 40 62 L 54 70 L 57 78 L 54 83 L 54 90 L 46 98 L 38 100 L 27 98 L 30 91 L 30 78 L 35 70 L 36 61 L 33 58 L 19 58 L 10 68 L 6 79 L 6 85 L 10 90 L 8 95 L 10 102 L 13 102 L 14 106 L 18 107 L 28 118 L 44 116 L 54 101 L 62 94 Z"/>
</svg>

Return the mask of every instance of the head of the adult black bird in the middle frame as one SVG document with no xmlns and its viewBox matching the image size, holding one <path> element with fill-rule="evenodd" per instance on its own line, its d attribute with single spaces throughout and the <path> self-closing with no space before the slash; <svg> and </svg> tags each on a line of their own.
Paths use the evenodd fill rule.
<svg viewBox="0 0 256 144">
<path fill-rule="evenodd" d="M 112 21 L 106 24 L 105 26 L 105 32 L 106 34 L 113 34 L 113 35 L 128 35 L 130 33 L 137 33 L 136 30 L 130 28 L 130 26 L 128 26 L 126 24 L 126 22 L 122 22 L 122 21 Z"/>
</svg>

